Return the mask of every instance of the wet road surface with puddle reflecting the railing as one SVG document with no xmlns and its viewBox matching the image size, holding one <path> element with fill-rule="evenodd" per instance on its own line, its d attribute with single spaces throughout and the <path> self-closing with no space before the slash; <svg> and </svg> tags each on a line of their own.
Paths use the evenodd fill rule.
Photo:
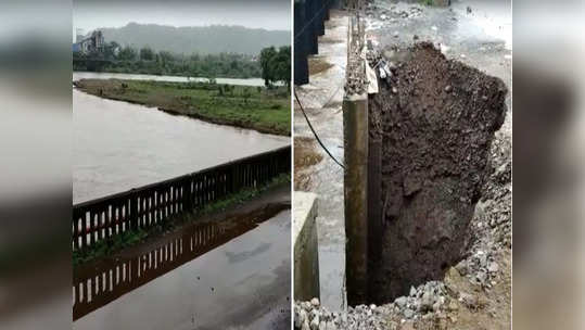
<svg viewBox="0 0 585 330">
<path fill-rule="evenodd" d="M 78 267 L 73 329 L 288 329 L 289 207 L 186 226 Z"/>
</svg>

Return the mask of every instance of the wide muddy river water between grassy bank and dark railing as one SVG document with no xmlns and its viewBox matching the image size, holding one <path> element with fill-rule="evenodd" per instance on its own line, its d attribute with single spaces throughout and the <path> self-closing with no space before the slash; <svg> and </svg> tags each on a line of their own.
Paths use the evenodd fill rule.
<svg viewBox="0 0 585 330">
<path fill-rule="evenodd" d="M 290 138 L 173 116 L 73 90 L 73 202 L 277 149 Z"/>
</svg>

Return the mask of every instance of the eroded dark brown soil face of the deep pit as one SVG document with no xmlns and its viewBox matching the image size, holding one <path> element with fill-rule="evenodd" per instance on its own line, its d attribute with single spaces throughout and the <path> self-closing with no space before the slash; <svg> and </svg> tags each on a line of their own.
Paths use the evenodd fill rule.
<svg viewBox="0 0 585 330">
<path fill-rule="evenodd" d="M 500 79 L 431 43 L 384 56 L 392 75 L 369 99 L 370 134 L 382 141 L 381 259 L 369 283 L 377 303 L 441 279 L 461 258 L 507 93 Z"/>
</svg>

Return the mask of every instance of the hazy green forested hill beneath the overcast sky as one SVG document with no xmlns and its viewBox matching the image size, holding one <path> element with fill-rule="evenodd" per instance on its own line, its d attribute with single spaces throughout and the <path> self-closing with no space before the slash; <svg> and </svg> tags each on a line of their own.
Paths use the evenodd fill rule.
<svg viewBox="0 0 585 330">
<path fill-rule="evenodd" d="M 106 42 L 173 53 L 217 54 L 221 52 L 259 54 L 270 46 L 289 46 L 291 34 L 285 30 L 266 30 L 243 26 L 173 27 L 130 23 L 119 28 L 101 28 Z"/>
</svg>

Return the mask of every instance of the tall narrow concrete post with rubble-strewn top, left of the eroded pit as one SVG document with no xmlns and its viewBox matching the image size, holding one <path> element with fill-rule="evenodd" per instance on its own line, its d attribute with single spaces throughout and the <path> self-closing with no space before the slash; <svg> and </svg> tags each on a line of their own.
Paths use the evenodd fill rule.
<svg viewBox="0 0 585 330">
<path fill-rule="evenodd" d="M 369 114 L 366 62 L 361 59 L 364 26 L 349 21 L 346 93 L 343 99 L 345 276 L 347 304 L 368 302 L 368 156 Z"/>
</svg>

